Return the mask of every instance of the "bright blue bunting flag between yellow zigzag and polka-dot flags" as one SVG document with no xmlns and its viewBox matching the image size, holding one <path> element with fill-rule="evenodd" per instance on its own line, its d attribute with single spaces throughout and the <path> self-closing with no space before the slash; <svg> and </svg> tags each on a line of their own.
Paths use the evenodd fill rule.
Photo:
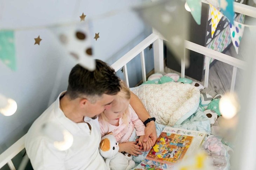
<svg viewBox="0 0 256 170">
<path fill-rule="evenodd" d="M 233 7 L 233 0 L 219 0 L 219 5 L 221 8 L 221 12 L 229 22 L 234 24 L 234 7 Z"/>
</svg>

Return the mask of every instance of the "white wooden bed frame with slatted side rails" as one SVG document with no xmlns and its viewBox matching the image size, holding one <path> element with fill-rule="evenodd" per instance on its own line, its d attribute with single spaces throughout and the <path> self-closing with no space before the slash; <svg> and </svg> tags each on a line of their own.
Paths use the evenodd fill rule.
<svg viewBox="0 0 256 170">
<path fill-rule="evenodd" d="M 202 0 L 202 2 L 207 3 L 204 0 Z M 256 18 L 256 8 L 251 6 L 234 2 L 234 11 L 237 13 L 241 13 L 241 14 Z M 141 56 L 142 79 L 143 79 L 143 82 L 146 81 L 144 49 L 146 49 L 152 43 L 153 43 L 153 49 L 154 49 L 154 70 L 155 72 L 163 72 L 164 70 L 163 40 L 165 40 L 165 38 L 153 29 L 153 33 L 151 35 L 149 35 L 147 38 L 141 41 L 138 45 L 136 45 L 132 50 L 127 52 L 127 54 L 125 54 L 123 57 L 117 60 L 114 64 L 112 64 L 112 67 L 115 69 L 115 71 L 118 71 L 119 69 L 123 68 L 124 81 L 128 86 L 129 86 L 129 80 L 128 80 L 128 72 L 127 72 L 127 63 L 139 54 Z M 237 68 L 245 69 L 246 63 L 244 61 L 222 54 L 212 49 L 203 47 L 201 45 L 195 44 L 190 41 L 185 42 L 185 48 L 196 51 L 206 56 L 204 87 L 208 87 L 209 62 L 211 58 L 214 58 L 218 61 L 232 65 L 233 75 L 231 80 L 230 91 L 231 92 L 234 91 Z M 185 63 L 181 62 L 181 77 L 184 78 L 184 75 L 185 75 Z M 11 147 L 9 147 L 6 151 L 4 151 L 4 153 L 0 155 L 0 168 L 8 164 L 11 170 L 16 170 L 12 162 L 12 158 L 15 157 L 18 153 L 20 153 L 20 151 L 22 151 L 25 148 L 25 138 L 26 138 L 26 134 L 22 136 L 18 141 L 16 141 Z M 254 143 L 255 142 L 256 141 L 254 141 Z M 254 151 L 256 152 L 256 150 Z M 27 162 L 28 162 L 28 157 L 25 155 L 25 157 L 23 158 L 20 164 L 19 169 L 21 170 L 24 169 Z M 242 165 L 245 165 L 246 162 L 247 162 L 246 158 L 243 158 L 240 161 Z M 250 167 L 250 169 L 255 169 L 255 167 Z M 240 168 L 238 167 L 237 169 L 240 169 Z"/>
</svg>

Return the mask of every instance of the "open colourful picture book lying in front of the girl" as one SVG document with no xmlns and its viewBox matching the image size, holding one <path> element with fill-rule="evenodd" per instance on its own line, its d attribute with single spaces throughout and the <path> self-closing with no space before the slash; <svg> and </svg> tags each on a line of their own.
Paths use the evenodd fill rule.
<svg viewBox="0 0 256 170">
<path fill-rule="evenodd" d="M 137 169 L 154 167 L 171 169 L 185 155 L 196 151 L 201 146 L 205 136 L 205 132 L 167 126 Z"/>
</svg>

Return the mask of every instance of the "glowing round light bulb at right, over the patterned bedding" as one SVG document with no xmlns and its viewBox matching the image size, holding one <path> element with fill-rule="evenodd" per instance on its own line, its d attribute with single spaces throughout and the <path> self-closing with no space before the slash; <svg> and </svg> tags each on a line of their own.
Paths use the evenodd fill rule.
<svg viewBox="0 0 256 170">
<path fill-rule="evenodd" d="M 221 115 L 225 119 L 233 118 L 240 109 L 238 99 L 235 93 L 227 93 L 221 99 L 219 103 Z"/>
</svg>

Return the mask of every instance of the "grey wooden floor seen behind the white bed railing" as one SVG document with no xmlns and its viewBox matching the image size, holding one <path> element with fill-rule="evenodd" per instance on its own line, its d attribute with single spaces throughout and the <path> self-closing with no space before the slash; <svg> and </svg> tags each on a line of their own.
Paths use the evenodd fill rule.
<svg viewBox="0 0 256 170">
<path fill-rule="evenodd" d="M 238 54 L 238 55 L 236 54 L 235 48 L 233 46 L 231 46 L 230 49 L 227 50 L 227 52 L 225 52 L 225 54 L 243 60 L 243 57 L 241 56 L 241 54 Z M 174 70 L 171 70 L 167 67 L 164 68 L 164 72 L 177 73 L 178 75 L 181 75 L 180 73 L 178 73 Z M 242 80 L 242 72 L 243 72 L 243 70 L 241 70 L 241 69 L 237 70 L 236 82 Z M 233 66 L 223 63 L 223 62 L 220 62 L 220 61 L 216 61 L 216 63 L 213 64 L 212 66 L 210 66 L 210 69 L 209 69 L 208 87 L 215 90 L 219 94 L 224 94 L 225 92 L 230 91 L 232 73 L 233 73 Z M 186 72 L 185 72 L 185 74 L 186 74 Z M 192 79 L 188 76 L 185 76 L 185 77 Z M 195 82 L 198 82 L 195 79 L 192 79 L 192 80 Z M 204 85 L 204 81 L 199 82 L 199 83 Z M 238 87 L 237 87 L 237 83 L 236 83 L 235 90 L 237 88 Z"/>
</svg>

